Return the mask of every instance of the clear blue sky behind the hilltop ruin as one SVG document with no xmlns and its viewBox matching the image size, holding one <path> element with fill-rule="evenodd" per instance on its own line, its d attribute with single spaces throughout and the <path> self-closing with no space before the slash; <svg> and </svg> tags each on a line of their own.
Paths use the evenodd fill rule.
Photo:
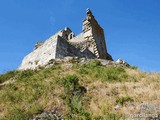
<svg viewBox="0 0 160 120">
<path fill-rule="evenodd" d="M 159 0 L 0 0 L 0 73 L 16 69 L 34 44 L 68 26 L 82 31 L 86 8 L 104 28 L 108 52 L 160 72 Z"/>
</svg>

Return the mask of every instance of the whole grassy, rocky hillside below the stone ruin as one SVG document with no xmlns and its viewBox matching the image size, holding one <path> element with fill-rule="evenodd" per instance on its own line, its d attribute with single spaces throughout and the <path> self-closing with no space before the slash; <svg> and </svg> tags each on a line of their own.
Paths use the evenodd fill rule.
<svg viewBox="0 0 160 120">
<path fill-rule="evenodd" d="M 3 120 L 159 120 L 159 114 L 160 74 L 128 64 L 53 60 L 0 75 Z"/>
</svg>

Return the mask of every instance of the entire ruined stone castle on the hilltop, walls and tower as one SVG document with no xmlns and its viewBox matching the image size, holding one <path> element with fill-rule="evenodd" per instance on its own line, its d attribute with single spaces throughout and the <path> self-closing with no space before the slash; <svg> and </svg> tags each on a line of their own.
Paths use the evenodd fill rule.
<svg viewBox="0 0 160 120">
<path fill-rule="evenodd" d="M 87 9 L 87 17 L 83 20 L 82 33 L 75 36 L 66 27 L 46 41 L 36 43 L 34 50 L 24 57 L 18 69 L 35 69 L 45 66 L 52 59 L 63 59 L 66 56 L 113 60 L 107 52 L 104 31 L 90 9 Z"/>
</svg>

